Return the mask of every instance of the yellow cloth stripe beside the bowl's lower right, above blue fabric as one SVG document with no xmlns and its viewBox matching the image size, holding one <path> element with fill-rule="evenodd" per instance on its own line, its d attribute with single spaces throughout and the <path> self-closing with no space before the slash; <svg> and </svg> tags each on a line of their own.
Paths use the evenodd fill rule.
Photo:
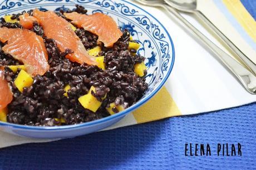
<svg viewBox="0 0 256 170">
<path fill-rule="evenodd" d="M 163 87 L 146 104 L 134 111 L 133 114 L 137 123 L 145 123 L 167 117 L 179 116 L 181 112 L 167 89 Z"/>
</svg>

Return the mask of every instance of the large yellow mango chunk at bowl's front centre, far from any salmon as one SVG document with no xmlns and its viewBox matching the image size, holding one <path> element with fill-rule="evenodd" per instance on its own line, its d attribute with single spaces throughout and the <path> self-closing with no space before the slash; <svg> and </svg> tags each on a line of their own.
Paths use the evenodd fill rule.
<svg viewBox="0 0 256 170">
<path fill-rule="evenodd" d="M 91 91 L 96 92 L 95 87 L 91 86 L 90 91 L 78 98 L 78 101 L 84 108 L 89 109 L 92 112 L 96 112 L 101 106 L 102 102 L 98 101 L 96 97 L 92 96 Z"/>
</svg>

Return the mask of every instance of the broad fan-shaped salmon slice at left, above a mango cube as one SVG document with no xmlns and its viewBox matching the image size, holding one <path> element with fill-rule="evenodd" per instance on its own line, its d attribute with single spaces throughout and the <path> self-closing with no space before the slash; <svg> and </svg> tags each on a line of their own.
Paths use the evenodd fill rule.
<svg viewBox="0 0 256 170">
<path fill-rule="evenodd" d="M 0 41 L 6 42 L 2 50 L 24 63 L 32 76 L 43 75 L 49 69 L 48 55 L 43 38 L 28 29 L 0 28 Z"/>
</svg>

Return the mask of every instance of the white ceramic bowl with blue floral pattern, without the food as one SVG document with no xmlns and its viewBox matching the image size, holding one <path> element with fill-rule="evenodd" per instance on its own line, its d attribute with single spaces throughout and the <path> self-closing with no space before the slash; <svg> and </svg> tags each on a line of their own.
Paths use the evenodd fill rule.
<svg viewBox="0 0 256 170">
<path fill-rule="evenodd" d="M 137 52 L 146 57 L 146 82 L 149 83 L 149 89 L 139 102 L 129 107 L 125 111 L 97 121 L 62 127 L 26 127 L 0 122 L 0 126 L 4 127 L 4 131 L 22 136 L 51 138 L 70 137 L 91 133 L 110 125 L 109 124 L 104 127 L 101 126 L 101 124 L 114 121 L 115 119 L 118 121 L 117 119 L 121 119 L 132 110 L 141 106 L 141 104 L 145 103 L 148 99 L 154 96 L 154 94 L 163 86 L 164 82 L 169 77 L 174 64 L 174 46 L 169 33 L 161 25 L 161 23 L 157 21 L 156 18 L 152 17 L 149 13 L 139 7 L 136 7 L 130 2 L 122 0 L 4 0 L 0 3 L 0 16 L 18 13 L 24 10 L 27 11 L 34 8 L 59 11 L 60 9 L 74 8 L 75 4 L 85 6 L 89 14 L 95 12 L 108 14 L 115 19 L 121 29 L 128 29 L 130 31 L 132 37 L 141 45 Z M 28 132 L 29 129 L 38 131 L 46 131 L 46 129 L 51 129 L 56 130 L 57 132 L 59 129 L 82 129 L 83 127 L 92 125 L 95 127 L 95 130 L 92 128 L 90 131 L 87 130 L 84 133 L 78 133 L 75 131 L 72 135 L 67 133 L 63 133 L 62 135 L 51 135 L 47 134 L 46 132 L 45 134 L 38 136 Z M 11 127 L 11 130 L 7 127 Z M 24 133 L 21 133 L 20 129 L 23 129 Z"/>
</svg>

